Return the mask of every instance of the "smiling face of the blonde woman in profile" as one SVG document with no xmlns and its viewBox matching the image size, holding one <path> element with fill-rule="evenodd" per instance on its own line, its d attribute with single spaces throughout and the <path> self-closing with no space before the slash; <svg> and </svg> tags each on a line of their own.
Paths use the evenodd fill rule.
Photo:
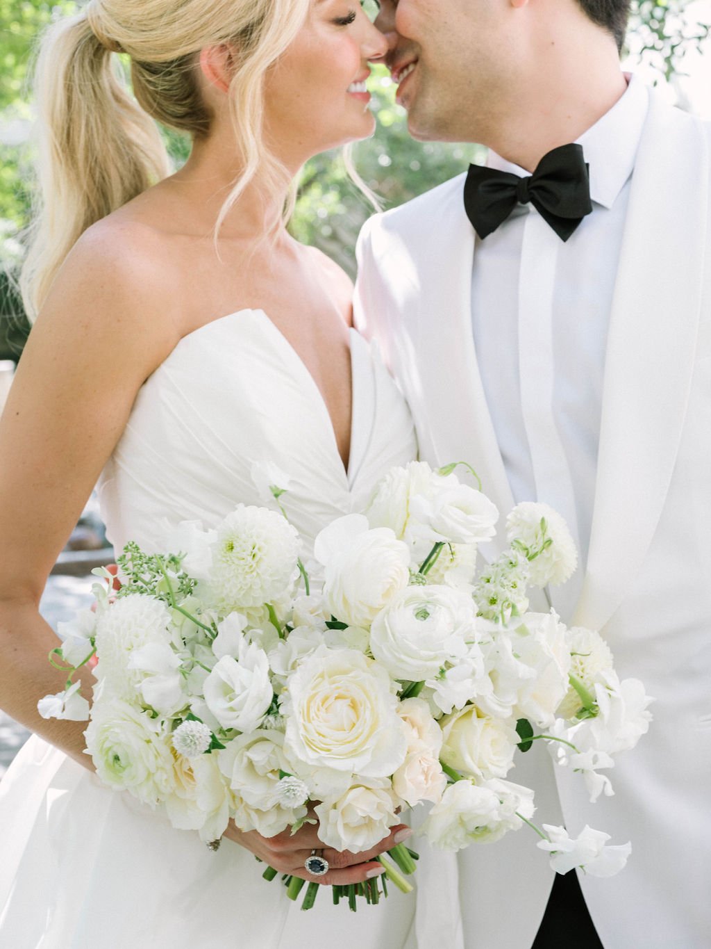
<svg viewBox="0 0 711 949">
<path fill-rule="evenodd" d="M 274 151 L 301 162 L 372 135 L 365 80 L 387 44 L 359 0 L 312 0 L 306 22 L 265 77 L 264 132 Z"/>
</svg>

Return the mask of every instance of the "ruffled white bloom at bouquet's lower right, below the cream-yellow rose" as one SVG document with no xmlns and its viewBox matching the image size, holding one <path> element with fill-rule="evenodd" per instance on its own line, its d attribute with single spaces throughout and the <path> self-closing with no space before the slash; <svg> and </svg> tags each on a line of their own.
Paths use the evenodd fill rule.
<svg viewBox="0 0 711 949">
<path fill-rule="evenodd" d="M 461 850 L 469 844 L 492 843 L 518 830 L 534 813 L 533 791 L 510 781 L 480 786 L 457 781 L 429 811 L 424 832 L 433 847 Z M 520 815 L 520 816 L 519 816 Z"/>
</svg>

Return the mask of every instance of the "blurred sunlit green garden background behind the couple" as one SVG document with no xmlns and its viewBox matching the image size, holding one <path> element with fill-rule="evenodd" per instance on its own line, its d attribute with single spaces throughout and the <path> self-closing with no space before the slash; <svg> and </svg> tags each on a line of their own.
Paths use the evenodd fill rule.
<svg viewBox="0 0 711 949">
<path fill-rule="evenodd" d="M 365 0 L 366 6 L 372 2 Z M 73 0 L 55 4 L 0 0 L 0 411 L 28 332 L 11 276 L 22 262 L 23 234 L 30 217 L 29 66 L 42 29 L 53 17 L 78 6 Z M 662 86 L 671 102 L 711 119 L 711 0 L 634 0 L 632 9 L 625 67 Z M 427 191 L 465 170 L 470 160 L 483 158 L 483 149 L 476 145 L 411 140 L 405 113 L 394 102 L 394 86 L 384 67 L 374 69 L 370 88 L 377 131 L 373 139 L 356 146 L 353 157 L 384 208 Z M 175 165 L 180 165 L 189 141 L 165 129 L 163 134 Z M 353 275 L 356 235 L 371 213 L 371 206 L 347 176 L 340 155 L 329 153 L 304 168 L 291 228 L 299 239 L 316 244 Z M 90 569 L 112 556 L 96 504 L 90 501 L 46 587 L 41 608 L 55 629 L 90 599 Z M 0 777 L 26 737 L 25 730 L 0 712 Z"/>
</svg>

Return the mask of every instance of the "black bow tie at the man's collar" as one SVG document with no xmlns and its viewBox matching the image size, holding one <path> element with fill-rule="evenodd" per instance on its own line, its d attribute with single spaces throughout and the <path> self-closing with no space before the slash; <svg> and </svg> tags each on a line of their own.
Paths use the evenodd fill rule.
<svg viewBox="0 0 711 949">
<path fill-rule="evenodd" d="M 529 177 L 469 165 L 465 210 L 480 237 L 496 231 L 516 205 L 528 201 L 561 240 L 568 240 L 593 211 L 590 175 L 581 145 L 561 145 L 544 155 Z"/>
</svg>

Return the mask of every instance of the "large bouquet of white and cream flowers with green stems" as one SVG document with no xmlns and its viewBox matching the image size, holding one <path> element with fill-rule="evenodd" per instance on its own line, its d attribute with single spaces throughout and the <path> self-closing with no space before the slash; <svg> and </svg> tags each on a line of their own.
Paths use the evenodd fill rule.
<svg viewBox="0 0 711 949">
<path fill-rule="evenodd" d="M 457 467 L 392 469 L 366 512 L 321 530 L 308 570 L 274 472 L 254 473 L 271 507 L 240 505 L 215 530 L 186 522 L 172 539 L 181 552 L 128 544 L 118 593 L 95 571 L 108 581 L 94 587 L 96 612 L 60 630 L 50 661 L 66 685 L 41 714 L 88 718 L 103 782 L 211 847 L 230 819 L 266 837 L 318 819 L 324 847 L 358 853 L 428 802 L 422 832 L 436 847 L 526 824 L 558 872 L 616 873 L 629 844 L 538 827 L 534 790 L 507 777 L 540 739 L 592 800 L 611 794 L 606 772 L 647 732 L 650 699 L 620 681 L 598 633 L 529 611 L 528 586 L 563 583 L 576 566 L 556 512 L 518 505 L 508 549 L 477 571 L 499 514 Z M 91 707 L 73 681 L 87 662 Z M 380 880 L 334 887 L 334 899 L 378 902 L 386 880 L 408 891 L 415 858 L 394 847 Z M 296 899 L 304 881 L 284 882 Z M 304 908 L 318 891 L 309 884 Z"/>
</svg>

